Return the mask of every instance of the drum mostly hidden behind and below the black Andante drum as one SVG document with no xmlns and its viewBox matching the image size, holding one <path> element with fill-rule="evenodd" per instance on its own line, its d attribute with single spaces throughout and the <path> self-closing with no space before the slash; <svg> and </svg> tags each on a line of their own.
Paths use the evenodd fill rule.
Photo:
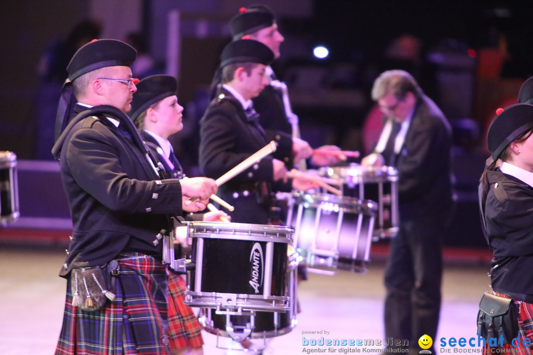
<svg viewBox="0 0 533 355">
<path fill-rule="evenodd" d="M 225 310 L 215 310 L 203 308 L 200 311 L 198 320 L 204 329 L 217 337 L 231 337 L 240 343 L 248 338 L 265 339 L 289 333 L 297 325 L 296 320 L 297 302 L 297 266 L 298 254 L 289 255 L 289 283 L 287 292 L 289 295 L 289 308 L 286 312 L 256 312 L 249 311 L 244 314 Z M 219 344 L 217 348 L 228 349 Z M 255 350 L 263 350 L 263 348 Z"/>
</svg>

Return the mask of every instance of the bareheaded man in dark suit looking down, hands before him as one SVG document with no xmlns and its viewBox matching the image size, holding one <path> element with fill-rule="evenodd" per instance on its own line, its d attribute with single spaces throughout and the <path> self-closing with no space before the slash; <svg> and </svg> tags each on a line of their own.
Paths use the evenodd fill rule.
<svg viewBox="0 0 533 355">
<path fill-rule="evenodd" d="M 374 153 L 364 165 L 398 169 L 400 231 L 385 270 L 385 335 L 435 339 L 439 324 L 442 241 L 453 211 L 451 129 L 435 103 L 403 70 L 383 72 L 372 98 L 385 114 Z"/>
</svg>

